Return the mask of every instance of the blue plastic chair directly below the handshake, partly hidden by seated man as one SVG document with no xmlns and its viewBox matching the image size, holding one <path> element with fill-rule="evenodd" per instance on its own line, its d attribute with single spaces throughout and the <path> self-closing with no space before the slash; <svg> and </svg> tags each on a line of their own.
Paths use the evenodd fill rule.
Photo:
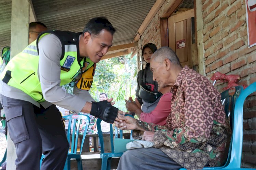
<svg viewBox="0 0 256 170">
<path fill-rule="evenodd" d="M 115 153 L 114 152 L 113 125 L 110 124 L 111 152 L 110 153 L 105 153 L 103 135 L 102 135 L 101 126 L 100 126 L 101 121 L 102 120 L 98 118 L 97 122 L 96 122 L 97 129 L 98 129 L 98 134 L 99 134 L 99 138 L 100 138 L 100 147 L 101 147 L 101 154 L 100 154 L 101 169 L 102 170 L 110 170 L 110 168 L 111 168 L 111 158 L 120 157 L 120 156 L 123 155 L 124 152 L 120 152 L 120 153 Z M 118 138 L 118 129 L 117 128 L 115 128 L 115 138 Z M 120 138 L 123 138 L 123 131 L 122 130 L 120 130 Z"/>
</svg>

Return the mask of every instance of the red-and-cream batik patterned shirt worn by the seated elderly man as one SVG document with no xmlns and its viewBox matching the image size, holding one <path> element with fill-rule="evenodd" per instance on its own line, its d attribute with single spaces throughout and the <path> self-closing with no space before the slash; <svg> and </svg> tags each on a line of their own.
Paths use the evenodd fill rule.
<svg viewBox="0 0 256 170">
<path fill-rule="evenodd" d="M 221 104 L 221 94 L 210 81 L 185 66 L 171 89 L 171 113 L 166 126 L 138 123 L 155 131 L 155 148 L 188 170 L 221 166 L 229 149 L 231 129 Z M 140 139 L 143 133 L 133 131 Z"/>
</svg>

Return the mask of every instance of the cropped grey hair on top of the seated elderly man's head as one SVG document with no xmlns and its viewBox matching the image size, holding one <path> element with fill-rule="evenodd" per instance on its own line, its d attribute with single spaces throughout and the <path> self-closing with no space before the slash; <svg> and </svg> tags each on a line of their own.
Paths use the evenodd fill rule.
<svg viewBox="0 0 256 170">
<path fill-rule="evenodd" d="M 165 59 L 169 59 L 173 64 L 181 66 L 176 53 L 169 47 L 159 48 L 151 57 L 151 60 L 159 63 L 162 63 Z"/>
</svg>

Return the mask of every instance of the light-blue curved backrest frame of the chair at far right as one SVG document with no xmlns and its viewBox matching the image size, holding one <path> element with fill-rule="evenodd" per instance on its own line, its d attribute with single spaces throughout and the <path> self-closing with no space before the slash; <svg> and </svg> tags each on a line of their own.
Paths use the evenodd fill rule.
<svg viewBox="0 0 256 170">
<path fill-rule="evenodd" d="M 241 167 L 242 145 L 243 145 L 243 105 L 246 97 L 256 91 L 256 82 L 252 83 L 241 92 L 234 106 L 233 133 L 231 138 L 232 148 L 230 154 L 230 164 L 227 169 Z"/>
</svg>

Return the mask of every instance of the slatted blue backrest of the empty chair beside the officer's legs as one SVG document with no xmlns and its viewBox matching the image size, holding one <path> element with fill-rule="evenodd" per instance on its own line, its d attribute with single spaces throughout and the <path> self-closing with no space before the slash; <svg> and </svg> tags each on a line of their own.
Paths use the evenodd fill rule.
<svg viewBox="0 0 256 170">
<path fill-rule="evenodd" d="M 82 120 L 85 120 L 85 129 L 84 129 L 83 139 L 81 142 L 80 152 L 79 152 L 79 154 L 81 154 L 83 144 L 84 144 L 84 139 L 85 139 L 85 136 L 86 136 L 86 133 L 88 130 L 89 123 L 90 123 L 90 117 L 87 115 L 84 115 L 84 114 L 70 114 L 70 115 L 63 116 L 63 118 L 69 120 L 68 134 L 67 134 L 69 144 L 70 144 L 70 135 L 71 135 L 71 125 L 72 125 L 72 129 L 73 129 L 72 138 L 71 138 L 71 151 L 68 152 L 68 154 L 77 154 L 79 126 L 80 126 L 80 123 L 82 122 Z M 77 125 L 76 125 L 76 122 L 77 122 Z M 78 126 L 78 128 L 76 128 L 77 126 Z"/>
</svg>

